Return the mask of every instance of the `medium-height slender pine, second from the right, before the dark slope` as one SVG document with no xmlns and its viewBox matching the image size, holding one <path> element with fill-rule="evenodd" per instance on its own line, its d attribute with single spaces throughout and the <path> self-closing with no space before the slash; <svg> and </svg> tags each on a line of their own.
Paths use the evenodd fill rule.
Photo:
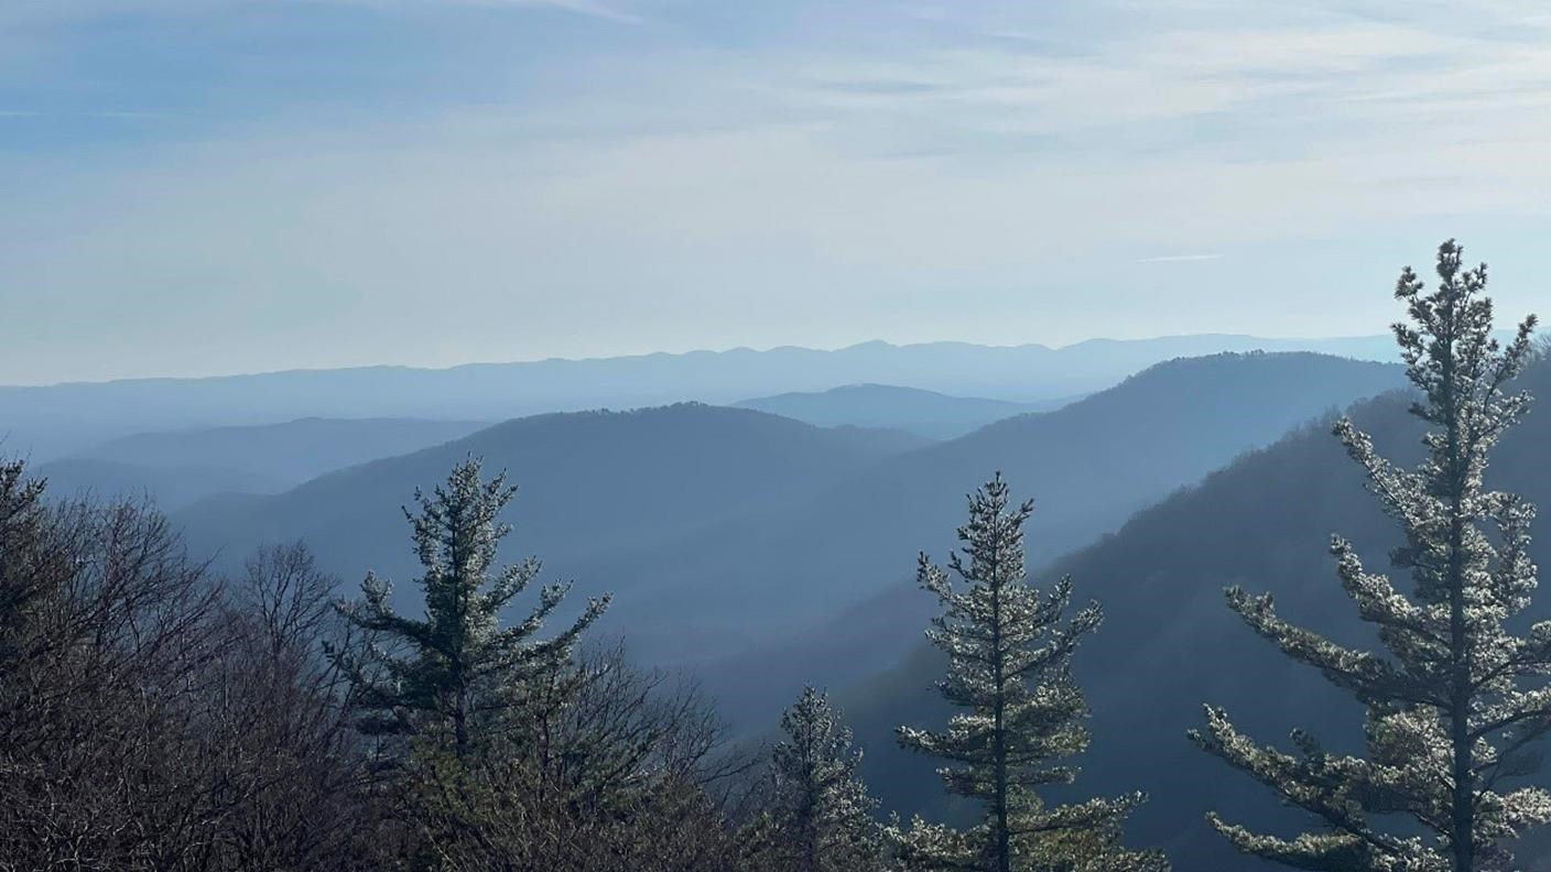
<svg viewBox="0 0 1551 872">
<path fill-rule="evenodd" d="M 1066 618 L 1070 577 L 1048 591 L 1027 582 L 1024 521 L 1031 512 L 1033 503 L 1010 504 L 997 473 L 969 497 L 969 523 L 959 529 L 965 546 L 948 569 L 920 557 L 921 587 L 943 604 L 927 630 L 948 655 L 938 690 L 962 712 L 946 732 L 900 728 L 900 743 L 948 760 L 948 790 L 979 801 L 985 815 L 968 830 L 915 819 L 890 835 L 912 869 L 1168 869 L 1157 853 L 1121 847 L 1121 824 L 1142 794 L 1073 805 L 1047 805 L 1038 794 L 1072 782 L 1069 760 L 1087 748 L 1087 704 L 1072 653 L 1098 628 L 1101 611 L 1092 604 Z"/>
</svg>

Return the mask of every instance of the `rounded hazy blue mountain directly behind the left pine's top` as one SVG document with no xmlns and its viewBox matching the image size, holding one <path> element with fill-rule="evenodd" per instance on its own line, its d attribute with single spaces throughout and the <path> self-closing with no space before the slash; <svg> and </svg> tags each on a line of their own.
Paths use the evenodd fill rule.
<svg viewBox="0 0 1551 872">
<path fill-rule="evenodd" d="M 636 411 L 551 413 L 333 472 L 273 497 L 212 498 L 178 512 L 205 552 L 306 537 L 358 580 L 368 568 L 408 580 L 416 562 L 399 506 L 458 461 L 484 458 L 518 486 L 512 552 L 537 552 L 591 593 L 608 579 L 574 573 L 582 555 L 676 540 L 744 512 L 800 503 L 830 481 L 918 444 L 893 431 L 817 428 L 754 411 L 678 403 Z M 413 588 L 405 588 L 413 593 Z"/>
</svg>

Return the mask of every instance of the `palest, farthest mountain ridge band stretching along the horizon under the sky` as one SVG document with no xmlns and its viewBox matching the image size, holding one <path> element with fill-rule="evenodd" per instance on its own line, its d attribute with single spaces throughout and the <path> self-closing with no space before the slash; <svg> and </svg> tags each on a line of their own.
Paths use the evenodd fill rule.
<svg viewBox="0 0 1551 872">
<path fill-rule="evenodd" d="M 47 461 L 132 433 L 278 424 L 299 417 L 506 420 L 549 411 L 732 403 L 839 385 L 903 385 L 954 396 L 1039 402 L 1107 388 L 1174 357 L 1221 351 L 1321 351 L 1390 360 L 1382 337 L 1275 340 L 1242 335 L 977 346 L 862 343 L 647 354 L 592 360 L 375 366 L 208 379 L 138 379 L 0 388 L 6 453 Z"/>
</svg>

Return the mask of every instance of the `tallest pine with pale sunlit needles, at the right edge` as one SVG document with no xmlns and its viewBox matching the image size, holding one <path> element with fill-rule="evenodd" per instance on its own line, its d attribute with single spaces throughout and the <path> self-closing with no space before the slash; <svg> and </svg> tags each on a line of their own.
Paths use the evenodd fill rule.
<svg viewBox="0 0 1551 872">
<path fill-rule="evenodd" d="M 1438 279 L 1424 293 L 1407 268 L 1394 293 L 1411 320 L 1394 326 L 1421 393 L 1411 411 L 1433 428 L 1425 459 L 1394 467 L 1351 420 L 1335 425 L 1370 490 L 1405 532 L 1391 562 L 1410 573 L 1410 594 L 1366 571 L 1343 538 L 1331 545 L 1342 588 L 1377 628 L 1387 655 L 1294 627 L 1269 596 L 1227 591 L 1228 605 L 1259 635 L 1366 706 L 1366 756 L 1328 753 L 1304 732 L 1294 732 L 1294 753 L 1267 748 L 1211 706 L 1207 728 L 1191 734 L 1312 813 L 1318 830 L 1292 839 L 1210 816 L 1238 849 L 1298 869 L 1511 869 L 1508 843 L 1551 821 L 1551 794 L 1514 787 L 1535 768 L 1531 745 L 1551 729 L 1551 622 L 1523 635 L 1506 625 L 1535 587 L 1528 552 L 1534 509 L 1483 484 L 1492 447 L 1529 402 L 1511 382 L 1531 355 L 1535 321 L 1528 318 L 1500 346 L 1483 296 L 1486 267 L 1461 270 L 1453 240 L 1438 250 Z M 1415 825 L 1387 832 L 1397 815 Z"/>
</svg>

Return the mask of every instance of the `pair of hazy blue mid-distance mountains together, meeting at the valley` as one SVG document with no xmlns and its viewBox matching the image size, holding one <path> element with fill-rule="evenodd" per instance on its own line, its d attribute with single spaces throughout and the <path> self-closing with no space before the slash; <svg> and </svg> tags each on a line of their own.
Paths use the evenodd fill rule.
<svg viewBox="0 0 1551 872">
<path fill-rule="evenodd" d="M 637 656 L 698 667 L 779 645 L 909 577 L 917 549 L 951 542 L 963 493 L 997 469 L 1052 506 L 1033 532 L 1055 557 L 1287 428 L 1399 383 L 1394 365 L 1314 354 L 1185 358 L 924 447 L 892 430 L 695 403 L 561 413 L 275 497 L 205 500 L 177 518 L 205 551 L 307 538 L 341 576 L 408 579 L 397 507 L 458 459 L 482 456 L 520 486 L 515 552 L 538 552 L 555 577 L 577 579 L 579 593 L 613 591 L 603 628 Z M 910 638 L 879 639 L 870 656 Z"/>
</svg>

